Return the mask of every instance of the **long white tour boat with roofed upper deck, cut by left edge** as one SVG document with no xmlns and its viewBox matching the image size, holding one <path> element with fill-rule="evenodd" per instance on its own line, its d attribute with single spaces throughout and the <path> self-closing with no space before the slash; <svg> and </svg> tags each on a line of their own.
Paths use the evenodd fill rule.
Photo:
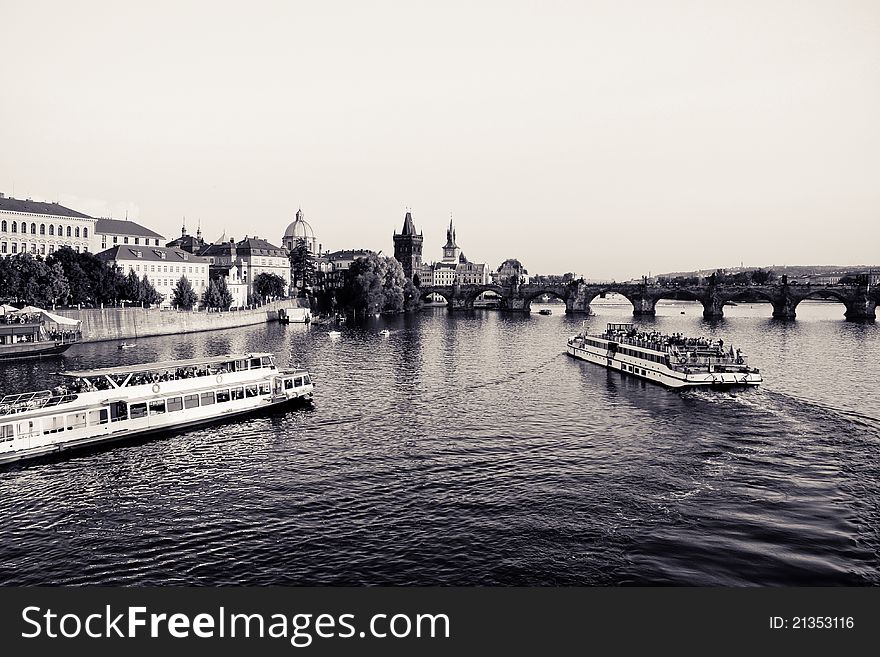
<svg viewBox="0 0 880 657">
<path fill-rule="evenodd" d="M 314 390 L 270 353 L 59 374 L 66 385 L 0 399 L 0 463 L 309 403 Z"/>
</svg>

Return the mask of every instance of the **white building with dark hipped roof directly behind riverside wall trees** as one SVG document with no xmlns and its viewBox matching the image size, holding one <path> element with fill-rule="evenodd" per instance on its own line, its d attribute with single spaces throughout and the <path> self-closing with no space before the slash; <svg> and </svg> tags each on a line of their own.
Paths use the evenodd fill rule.
<svg viewBox="0 0 880 657">
<path fill-rule="evenodd" d="M 181 276 L 186 276 L 201 299 L 208 289 L 208 258 L 181 249 L 164 246 L 117 245 L 101 251 L 98 257 L 112 264 L 123 276 L 133 271 L 138 278 L 146 275 L 159 294 L 165 295 L 162 307 L 171 306 L 171 293 Z"/>
</svg>

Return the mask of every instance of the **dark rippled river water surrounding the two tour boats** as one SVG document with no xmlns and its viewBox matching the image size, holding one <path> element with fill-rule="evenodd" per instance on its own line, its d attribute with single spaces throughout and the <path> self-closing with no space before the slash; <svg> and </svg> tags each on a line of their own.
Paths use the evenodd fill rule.
<svg viewBox="0 0 880 657">
<path fill-rule="evenodd" d="M 608 301 L 592 329 L 629 321 Z M 681 393 L 569 358 L 582 318 L 548 307 L 2 364 L 11 393 L 59 368 L 271 350 L 317 388 L 310 410 L 0 469 L 0 583 L 880 584 L 880 326 L 833 303 L 711 323 L 662 303 L 636 323 L 723 337 L 765 379 Z"/>
</svg>

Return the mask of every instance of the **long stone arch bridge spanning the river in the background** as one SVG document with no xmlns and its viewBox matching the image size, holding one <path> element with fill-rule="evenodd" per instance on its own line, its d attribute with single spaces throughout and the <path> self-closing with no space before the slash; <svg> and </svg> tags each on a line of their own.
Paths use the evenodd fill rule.
<svg viewBox="0 0 880 657">
<path fill-rule="evenodd" d="M 880 303 L 880 287 L 869 285 L 688 285 L 666 287 L 633 283 L 594 284 L 572 282 L 566 285 L 449 285 L 421 288 L 421 298 L 432 294 L 446 299 L 450 310 L 473 308 L 474 301 L 484 292 L 501 297 L 500 308 L 515 312 L 530 312 L 532 301 L 545 294 L 565 302 L 566 313 L 590 313 L 590 303 L 598 296 L 619 294 L 633 305 L 633 315 L 655 315 L 660 299 L 699 301 L 703 317 L 714 319 L 724 316 L 724 306 L 730 303 L 768 301 L 773 306 L 773 317 L 794 319 L 798 304 L 804 299 L 834 299 L 846 307 L 844 316 L 850 320 L 876 319 Z"/>
</svg>

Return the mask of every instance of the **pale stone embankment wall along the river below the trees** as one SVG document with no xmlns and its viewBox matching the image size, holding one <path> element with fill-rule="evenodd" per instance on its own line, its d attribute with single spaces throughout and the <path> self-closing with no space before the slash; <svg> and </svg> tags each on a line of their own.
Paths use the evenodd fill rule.
<svg viewBox="0 0 880 657">
<path fill-rule="evenodd" d="M 83 342 L 102 342 L 265 324 L 277 321 L 278 310 L 281 308 L 299 308 L 299 304 L 296 299 L 281 299 L 251 310 L 227 312 L 159 310 L 138 307 L 88 308 L 56 310 L 54 312 L 82 322 Z M 308 308 L 301 310 L 309 312 Z"/>
</svg>

